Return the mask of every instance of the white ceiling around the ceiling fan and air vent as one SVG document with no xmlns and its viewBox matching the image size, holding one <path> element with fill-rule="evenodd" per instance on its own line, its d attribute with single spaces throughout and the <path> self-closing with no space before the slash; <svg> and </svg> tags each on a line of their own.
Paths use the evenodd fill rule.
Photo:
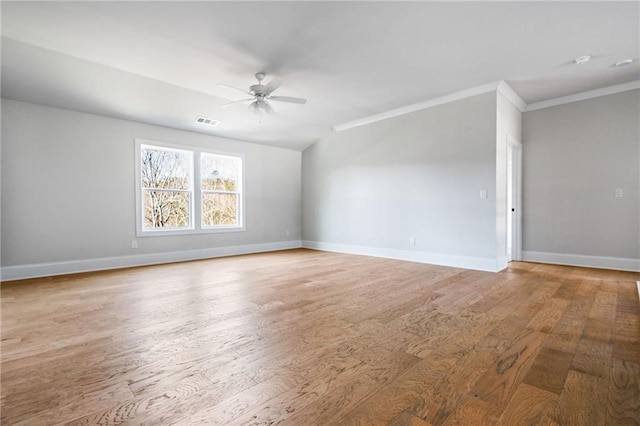
<svg viewBox="0 0 640 426">
<path fill-rule="evenodd" d="M 2 96 L 302 150 L 505 80 L 527 103 L 640 80 L 634 2 L 2 2 Z M 582 55 L 585 65 L 572 61 Z M 262 118 L 216 87 L 266 71 Z M 231 95 L 231 96 L 229 96 Z M 197 116 L 221 120 L 215 129 Z"/>
</svg>

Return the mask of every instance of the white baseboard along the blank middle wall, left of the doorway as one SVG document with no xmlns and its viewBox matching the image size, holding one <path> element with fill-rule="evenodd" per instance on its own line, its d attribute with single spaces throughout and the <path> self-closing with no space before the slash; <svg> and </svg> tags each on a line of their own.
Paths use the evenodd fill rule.
<svg viewBox="0 0 640 426">
<path fill-rule="evenodd" d="M 409 262 L 430 263 L 433 265 L 451 266 L 454 268 L 475 269 L 478 271 L 498 272 L 496 259 L 454 256 L 448 254 L 428 253 L 423 251 L 386 249 L 379 247 L 357 246 L 351 244 L 324 243 L 303 240 L 302 247 L 331 251 L 336 253 L 359 254 L 364 256 L 384 257 L 388 259 L 406 260 Z"/>
</svg>

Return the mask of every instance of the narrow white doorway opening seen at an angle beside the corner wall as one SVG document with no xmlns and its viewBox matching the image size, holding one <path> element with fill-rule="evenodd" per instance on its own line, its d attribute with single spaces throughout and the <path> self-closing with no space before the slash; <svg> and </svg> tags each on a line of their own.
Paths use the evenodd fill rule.
<svg viewBox="0 0 640 426">
<path fill-rule="evenodd" d="M 507 261 L 522 260 L 522 144 L 507 136 Z"/>
</svg>

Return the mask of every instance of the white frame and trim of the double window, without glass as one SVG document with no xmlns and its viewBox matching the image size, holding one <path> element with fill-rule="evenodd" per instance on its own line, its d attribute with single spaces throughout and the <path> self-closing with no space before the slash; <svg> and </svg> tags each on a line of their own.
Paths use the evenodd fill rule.
<svg viewBox="0 0 640 426">
<path fill-rule="evenodd" d="M 244 220 L 244 205 L 245 205 L 245 184 L 244 184 L 244 155 L 223 152 L 216 150 L 209 150 L 206 148 L 177 145 L 166 142 L 158 142 L 148 139 L 135 139 L 135 195 L 136 195 L 136 236 L 137 237 L 149 237 L 149 236 L 168 236 L 168 235 L 190 235 L 190 234 L 215 234 L 221 232 L 241 232 L 245 231 Z M 141 171 L 141 156 L 140 151 L 142 146 L 149 146 L 151 148 L 167 149 L 186 151 L 191 153 L 191 200 L 189 205 L 189 222 L 190 226 L 186 228 L 166 228 L 166 229 L 148 229 L 144 227 L 143 218 L 143 192 L 142 192 L 142 171 Z M 204 226 L 202 223 L 202 194 L 203 191 L 200 187 L 200 167 L 202 154 L 219 155 L 223 157 L 233 157 L 240 159 L 240 176 L 238 182 L 238 224 L 237 225 L 219 225 L 219 226 Z M 183 191 L 183 190 L 179 190 Z M 184 190 L 185 192 L 189 190 Z M 210 192 L 210 191 L 204 191 Z"/>
</svg>

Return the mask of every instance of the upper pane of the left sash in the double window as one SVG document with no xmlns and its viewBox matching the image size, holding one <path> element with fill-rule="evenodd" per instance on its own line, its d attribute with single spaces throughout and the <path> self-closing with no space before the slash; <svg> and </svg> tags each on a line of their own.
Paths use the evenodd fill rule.
<svg viewBox="0 0 640 426">
<path fill-rule="evenodd" d="M 190 189 L 191 153 L 141 146 L 143 188 Z"/>
</svg>

